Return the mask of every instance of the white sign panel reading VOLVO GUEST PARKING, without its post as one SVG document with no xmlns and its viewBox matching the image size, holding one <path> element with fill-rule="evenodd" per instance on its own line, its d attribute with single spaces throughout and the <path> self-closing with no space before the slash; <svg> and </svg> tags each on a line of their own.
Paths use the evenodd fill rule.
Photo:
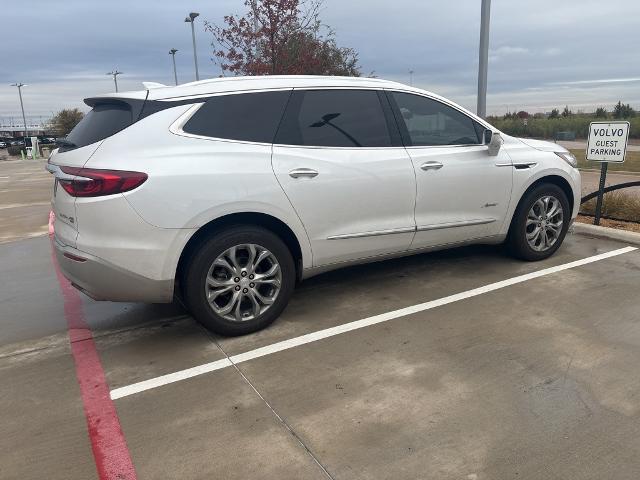
<svg viewBox="0 0 640 480">
<path fill-rule="evenodd" d="M 589 125 L 587 160 L 624 162 L 629 138 L 629 122 L 592 122 Z"/>
</svg>

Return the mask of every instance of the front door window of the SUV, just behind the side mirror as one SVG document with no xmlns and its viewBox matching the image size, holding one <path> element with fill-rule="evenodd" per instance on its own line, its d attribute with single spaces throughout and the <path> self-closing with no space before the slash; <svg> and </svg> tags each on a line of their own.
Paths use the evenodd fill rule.
<svg viewBox="0 0 640 480">
<path fill-rule="evenodd" d="M 482 126 L 455 108 L 420 95 L 400 92 L 391 95 L 400 110 L 398 121 L 406 127 L 407 146 L 482 143 Z"/>
</svg>

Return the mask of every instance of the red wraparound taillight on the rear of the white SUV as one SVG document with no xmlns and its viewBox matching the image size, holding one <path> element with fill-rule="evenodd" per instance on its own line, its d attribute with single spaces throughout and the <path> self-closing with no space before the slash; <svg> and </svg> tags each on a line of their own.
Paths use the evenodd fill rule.
<svg viewBox="0 0 640 480">
<path fill-rule="evenodd" d="M 75 178 L 58 179 L 65 192 L 72 197 L 100 197 L 124 193 L 142 185 L 147 174 L 125 170 L 99 170 L 96 168 L 60 167 L 67 175 Z"/>
</svg>

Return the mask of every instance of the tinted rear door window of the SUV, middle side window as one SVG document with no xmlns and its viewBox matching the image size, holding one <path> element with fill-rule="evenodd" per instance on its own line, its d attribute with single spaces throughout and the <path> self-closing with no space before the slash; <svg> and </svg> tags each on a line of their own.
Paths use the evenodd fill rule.
<svg viewBox="0 0 640 480">
<path fill-rule="evenodd" d="M 318 147 L 390 147 L 372 90 L 306 90 L 291 96 L 275 143 Z"/>
</svg>

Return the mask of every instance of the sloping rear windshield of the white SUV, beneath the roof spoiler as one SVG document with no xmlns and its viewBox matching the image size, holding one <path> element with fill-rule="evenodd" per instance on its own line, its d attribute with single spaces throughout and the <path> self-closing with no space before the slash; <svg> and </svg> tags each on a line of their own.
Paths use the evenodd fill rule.
<svg viewBox="0 0 640 480">
<path fill-rule="evenodd" d="M 131 106 L 126 103 L 98 103 L 67 135 L 74 147 L 104 140 L 133 123 Z"/>
</svg>

